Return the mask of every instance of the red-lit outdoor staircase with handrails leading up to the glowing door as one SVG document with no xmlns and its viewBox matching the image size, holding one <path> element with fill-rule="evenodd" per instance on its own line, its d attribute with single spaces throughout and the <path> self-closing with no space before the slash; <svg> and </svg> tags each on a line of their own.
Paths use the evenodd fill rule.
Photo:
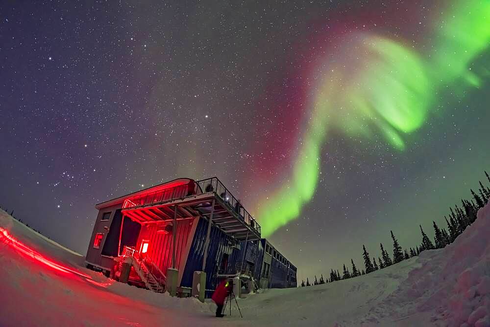
<svg viewBox="0 0 490 327">
<path fill-rule="evenodd" d="M 165 292 L 165 284 L 167 276 L 160 271 L 158 266 L 154 264 L 149 257 L 141 258 L 138 252 L 130 247 L 124 246 L 123 257 L 130 257 L 131 264 L 136 274 L 145 283 L 148 289 L 153 292 Z"/>
</svg>

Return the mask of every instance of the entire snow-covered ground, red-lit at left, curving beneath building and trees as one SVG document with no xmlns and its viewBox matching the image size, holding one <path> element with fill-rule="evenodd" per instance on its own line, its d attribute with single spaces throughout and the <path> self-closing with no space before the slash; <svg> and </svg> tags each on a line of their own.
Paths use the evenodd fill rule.
<svg viewBox="0 0 490 327">
<path fill-rule="evenodd" d="M 0 211 L 0 326 L 490 326 L 490 205 L 451 245 L 365 276 L 215 306 L 117 283 Z M 227 310 L 227 312 L 229 312 Z"/>
</svg>

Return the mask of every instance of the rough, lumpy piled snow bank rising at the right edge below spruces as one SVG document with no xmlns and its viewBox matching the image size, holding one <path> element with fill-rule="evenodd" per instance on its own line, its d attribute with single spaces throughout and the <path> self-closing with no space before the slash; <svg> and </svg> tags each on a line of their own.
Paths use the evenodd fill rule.
<svg viewBox="0 0 490 327">
<path fill-rule="evenodd" d="M 363 322 L 411 321 L 425 313 L 432 325 L 490 326 L 490 204 L 452 244 L 422 252 L 417 263 Z"/>
</svg>

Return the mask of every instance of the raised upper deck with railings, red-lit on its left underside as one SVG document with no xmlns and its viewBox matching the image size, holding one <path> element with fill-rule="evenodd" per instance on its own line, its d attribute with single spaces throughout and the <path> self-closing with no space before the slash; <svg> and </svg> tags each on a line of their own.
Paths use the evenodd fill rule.
<svg viewBox="0 0 490 327">
<path fill-rule="evenodd" d="M 123 214 L 141 224 L 202 217 L 236 240 L 260 240 L 260 225 L 217 177 L 190 184 L 169 183 L 127 197 Z"/>
</svg>

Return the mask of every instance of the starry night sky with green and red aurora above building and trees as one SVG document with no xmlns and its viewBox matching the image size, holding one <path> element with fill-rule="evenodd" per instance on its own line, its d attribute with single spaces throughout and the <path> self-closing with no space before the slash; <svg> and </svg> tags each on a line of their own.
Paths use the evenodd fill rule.
<svg viewBox="0 0 490 327">
<path fill-rule="evenodd" d="M 490 169 L 489 1 L 229 2 L 2 1 L 0 205 L 85 254 L 96 203 L 218 176 L 299 281 L 445 227 Z"/>
</svg>

